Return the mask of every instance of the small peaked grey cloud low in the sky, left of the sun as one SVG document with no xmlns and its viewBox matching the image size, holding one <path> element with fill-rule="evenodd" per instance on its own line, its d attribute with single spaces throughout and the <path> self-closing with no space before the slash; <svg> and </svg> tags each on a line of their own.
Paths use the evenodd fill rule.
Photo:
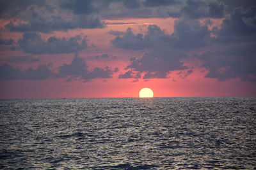
<svg viewBox="0 0 256 170">
<path fill-rule="evenodd" d="M 84 59 L 76 54 L 71 64 L 63 64 L 59 67 L 56 76 L 69 77 L 69 80 L 77 80 L 78 78 L 79 81 L 90 81 L 95 78 L 111 78 L 111 75 L 116 71 L 110 67 L 95 67 L 89 70 Z"/>
</svg>

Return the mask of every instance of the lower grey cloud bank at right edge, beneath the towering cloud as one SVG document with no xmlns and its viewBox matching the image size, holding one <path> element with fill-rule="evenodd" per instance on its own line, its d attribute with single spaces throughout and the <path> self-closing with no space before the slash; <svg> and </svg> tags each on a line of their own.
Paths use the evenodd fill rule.
<svg viewBox="0 0 256 170">
<path fill-rule="evenodd" d="M 240 78 L 241 81 L 256 81 L 255 45 L 236 46 L 221 52 L 205 52 L 200 59 L 209 72 L 206 78 L 217 78 L 219 81 Z"/>
</svg>

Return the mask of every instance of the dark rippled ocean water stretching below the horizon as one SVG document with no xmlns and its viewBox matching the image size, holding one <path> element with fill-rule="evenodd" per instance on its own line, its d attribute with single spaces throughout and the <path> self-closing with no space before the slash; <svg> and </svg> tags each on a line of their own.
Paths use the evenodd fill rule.
<svg viewBox="0 0 256 170">
<path fill-rule="evenodd" d="M 255 169 L 256 97 L 0 101 L 0 169 Z"/>
</svg>

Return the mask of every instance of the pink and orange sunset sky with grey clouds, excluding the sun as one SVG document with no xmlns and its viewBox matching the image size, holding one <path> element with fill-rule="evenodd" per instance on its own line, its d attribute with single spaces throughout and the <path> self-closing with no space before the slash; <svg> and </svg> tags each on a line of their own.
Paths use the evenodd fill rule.
<svg viewBox="0 0 256 170">
<path fill-rule="evenodd" d="M 0 0 L 0 99 L 256 96 L 256 1 Z"/>
</svg>

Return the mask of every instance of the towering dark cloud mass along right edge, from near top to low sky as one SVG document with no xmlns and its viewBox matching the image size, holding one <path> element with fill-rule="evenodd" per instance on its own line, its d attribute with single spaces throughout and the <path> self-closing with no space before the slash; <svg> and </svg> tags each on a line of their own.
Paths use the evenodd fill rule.
<svg viewBox="0 0 256 170">
<path fill-rule="evenodd" d="M 244 11 L 236 8 L 225 17 L 220 29 L 214 27 L 216 36 L 212 43 L 221 45 L 225 50 L 204 52 L 200 59 L 202 67 L 207 69 L 205 78 L 226 81 L 239 78 L 241 81 L 256 81 L 256 7 Z"/>
</svg>

